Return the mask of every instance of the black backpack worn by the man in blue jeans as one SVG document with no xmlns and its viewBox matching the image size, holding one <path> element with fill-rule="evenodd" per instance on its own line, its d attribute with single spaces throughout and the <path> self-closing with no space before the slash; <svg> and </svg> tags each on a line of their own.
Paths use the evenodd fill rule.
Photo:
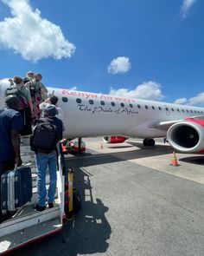
<svg viewBox="0 0 204 256">
<path fill-rule="evenodd" d="M 51 153 L 56 148 L 56 126 L 49 122 L 41 122 L 34 128 L 30 136 L 30 149 L 35 153 Z"/>
</svg>

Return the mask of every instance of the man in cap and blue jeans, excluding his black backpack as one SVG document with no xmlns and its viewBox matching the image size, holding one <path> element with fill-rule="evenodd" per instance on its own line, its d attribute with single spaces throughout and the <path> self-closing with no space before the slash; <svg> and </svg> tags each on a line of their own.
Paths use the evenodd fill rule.
<svg viewBox="0 0 204 256">
<path fill-rule="evenodd" d="M 56 143 L 62 139 L 63 123 L 55 115 L 57 110 L 54 106 L 45 109 L 45 117 L 37 121 L 37 123 L 51 123 L 56 127 Z M 55 144 L 56 145 L 56 144 Z M 45 154 L 35 152 L 35 161 L 37 166 L 37 192 L 38 200 L 35 205 L 37 211 L 45 210 L 46 206 L 46 170 L 49 169 L 49 188 L 48 188 L 48 207 L 54 207 L 54 194 L 56 190 L 56 171 L 57 171 L 57 153 L 53 150 L 51 153 Z"/>
</svg>

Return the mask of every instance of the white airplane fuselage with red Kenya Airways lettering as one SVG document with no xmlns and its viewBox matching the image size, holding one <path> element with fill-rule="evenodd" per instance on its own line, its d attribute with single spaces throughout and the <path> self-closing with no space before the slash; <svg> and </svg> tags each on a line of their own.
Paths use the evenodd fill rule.
<svg viewBox="0 0 204 256">
<path fill-rule="evenodd" d="M 0 81 L 0 105 L 4 91 L 10 85 Z M 159 121 L 183 120 L 189 116 L 204 115 L 204 108 L 166 102 L 130 99 L 115 95 L 48 88 L 57 95 L 67 138 L 124 135 L 154 138 L 166 136 L 163 129 L 152 128 Z"/>
</svg>

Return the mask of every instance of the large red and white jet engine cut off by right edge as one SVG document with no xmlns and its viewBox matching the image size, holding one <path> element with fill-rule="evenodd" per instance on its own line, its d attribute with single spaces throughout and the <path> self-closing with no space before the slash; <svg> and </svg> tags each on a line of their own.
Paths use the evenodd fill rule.
<svg viewBox="0 0 204 256">
<path fill-rule="evenodd" d="M 183 153 L 204 153 L 204 120 L 187 118 L 167 132 L 170 145 Z"/>
</svg>

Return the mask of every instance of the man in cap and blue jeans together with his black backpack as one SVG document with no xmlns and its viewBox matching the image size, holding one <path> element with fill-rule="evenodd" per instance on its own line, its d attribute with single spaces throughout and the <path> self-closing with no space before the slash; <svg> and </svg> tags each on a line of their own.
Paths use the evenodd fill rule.
<svg viewBox="0 0 204 256">
<path fill-rule="evenodd" d="M 56 108 L 48 106 L 44 110 L 44 117 L 36 121 L 34 133 L 30 137 L 30 148 L 35 151 L 37 167 L 38 200 L 35 205 L 37 211 L 46 208 L 46 170 L 49 170 L 48 207 L 54 207 L 56 190 L 57 152 L 56 144 L 62 139 L 63 123 L 55 115 Z"/>
</svg>

